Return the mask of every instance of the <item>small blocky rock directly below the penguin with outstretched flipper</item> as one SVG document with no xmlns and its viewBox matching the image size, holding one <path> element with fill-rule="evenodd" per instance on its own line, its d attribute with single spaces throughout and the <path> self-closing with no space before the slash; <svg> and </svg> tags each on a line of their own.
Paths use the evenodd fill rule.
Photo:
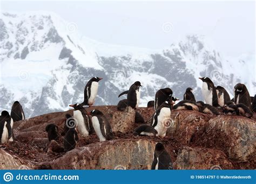
<svg viewBox="0 0 256 184">
<path fill-rule="evenodd" d="M 135 110 L 127 107 L 125 111 L 116 111 L 111 119 L 111 128 L 113 132 L 130 132 L 133 130 L 135 119 Z"/>
</svg>

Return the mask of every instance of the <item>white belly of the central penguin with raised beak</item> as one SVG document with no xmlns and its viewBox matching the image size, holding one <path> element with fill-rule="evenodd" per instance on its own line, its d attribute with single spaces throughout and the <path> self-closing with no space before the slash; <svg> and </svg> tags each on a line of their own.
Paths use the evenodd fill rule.
<svg viewBox="0 0 256 184">
<path fill-rule="evenodd" d="M 154 127 L 157 131 L 157 136 L 165 137 L 167 126 L 165 125 L 165 121 L 168 121 L 171 116 L 170 108 L 161 108 L 161 111 L 157 117 L 157 125 Z"/>
</svg>

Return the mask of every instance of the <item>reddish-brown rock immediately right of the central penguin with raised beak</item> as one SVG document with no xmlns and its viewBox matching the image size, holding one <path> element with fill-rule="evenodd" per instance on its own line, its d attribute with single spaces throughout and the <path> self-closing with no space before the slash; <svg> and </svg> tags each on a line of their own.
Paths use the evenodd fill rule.
<svg viewBox="0 0 256 184">
<path fill-rule="evenodd" d="M 175 110 L 171 112 L 172 123 L 166 136 L 176 138 L 183 144 L 189 144 L 195 132 L 201 129 L 211 118 L 210 115 L 192 110 Z"/>
</svg>

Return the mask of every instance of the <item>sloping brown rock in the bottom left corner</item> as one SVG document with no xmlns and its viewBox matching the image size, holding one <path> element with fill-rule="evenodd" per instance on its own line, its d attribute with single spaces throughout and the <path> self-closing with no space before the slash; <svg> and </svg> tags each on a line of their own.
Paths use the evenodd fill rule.
<svg viewBox="0 0 256 184">
<path fill-rule="evenodd" d="M 33 167 L 29 162 L 0 150 L 0 169 L 33 169 Z"/>
</svg>

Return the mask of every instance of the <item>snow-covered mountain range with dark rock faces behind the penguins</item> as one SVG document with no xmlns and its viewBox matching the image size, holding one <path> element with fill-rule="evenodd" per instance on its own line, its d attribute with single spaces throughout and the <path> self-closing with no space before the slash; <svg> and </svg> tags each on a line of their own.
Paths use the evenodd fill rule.
<svg viewBox="0 0 256 184">
<path fill-rule="evenodd" d="M 141 106 L 164 87 L 171 87 L 179 98 L 192 87 L 202 100 L 200 76 L 230 93 L 238 82 L 255 93 L 254 56 L 227 61 L 199 36 L 153 51 L 99 43 L 75 29 L 75 24 L 48 12 L 2 14 L 1 109 L 10 110 L 18 100 L 27 117 L 67 110 L 69 104 L 83 101 L 84 86 L 92 76 L 104 78 L 96 105 L 117 104 L 118 94 L 134 81 L 142 82 Z"/>
</svg>

